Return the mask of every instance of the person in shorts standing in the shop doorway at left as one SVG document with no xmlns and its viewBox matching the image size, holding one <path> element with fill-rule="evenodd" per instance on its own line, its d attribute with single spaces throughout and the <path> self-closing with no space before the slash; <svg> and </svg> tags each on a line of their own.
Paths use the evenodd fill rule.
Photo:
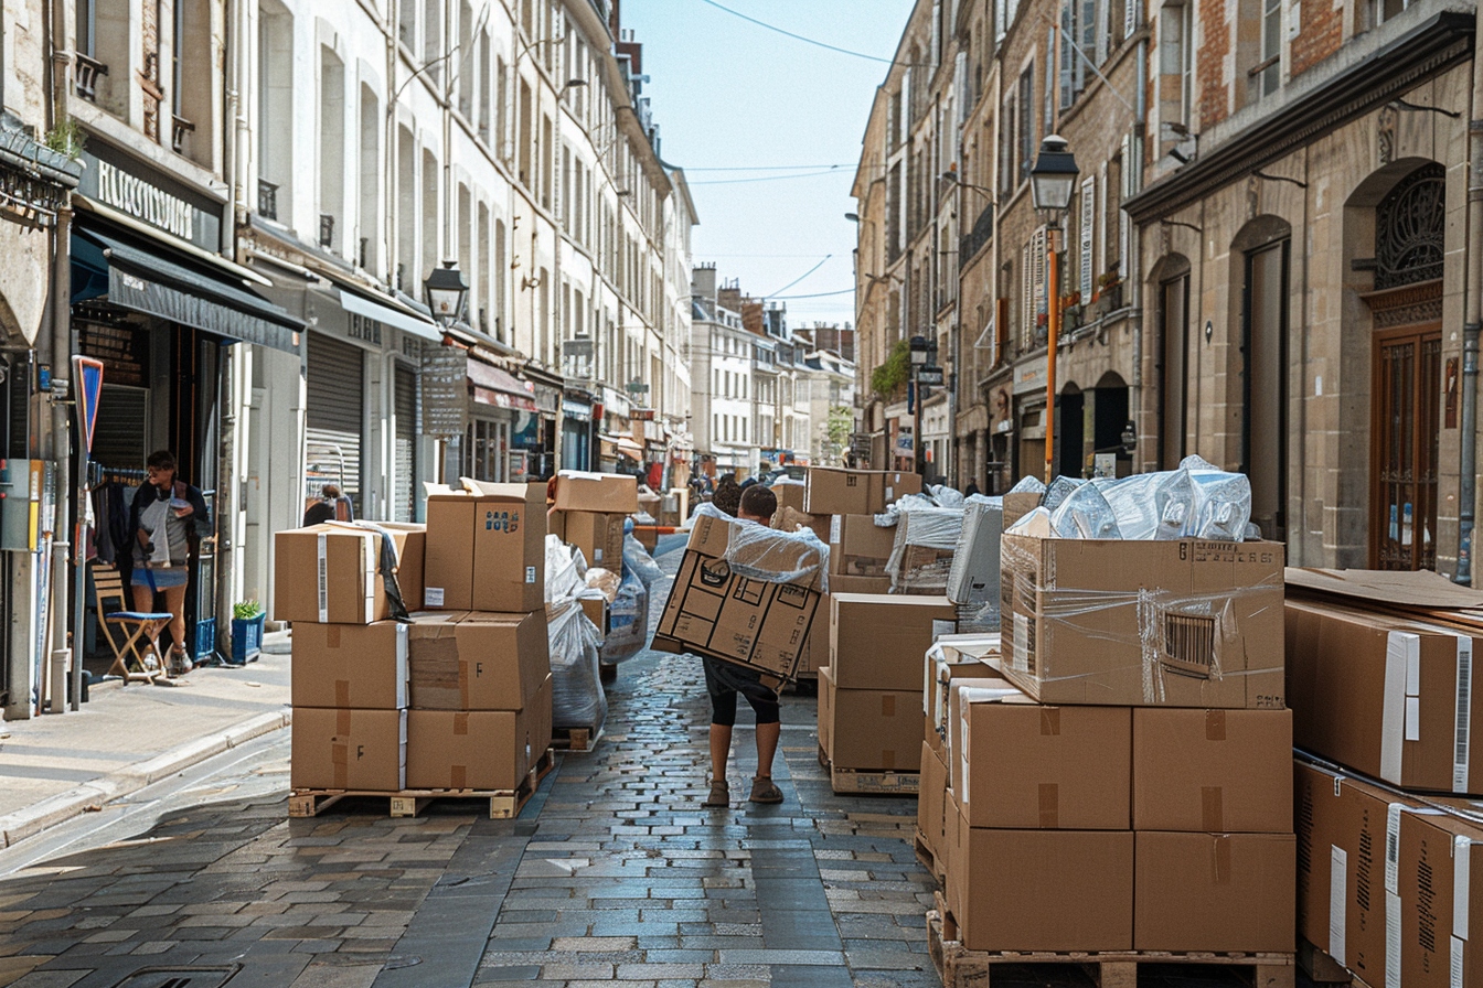
<svg viewBox="0 0 1483 988">
<path fill-rule="evenodd" d="M 169 630 L 175 644 L 171 649 L 168 672 L 181 675 L 191 670 L 185 649 L 185 584 L 190 581 L 190 557 L 208 532 L 206 499 L 199 487 L 179 480 L 175 455 L 169 450 L 150 453 L 144 464 L 148 480 L 139 487 L 129 508 L 129 532 L 133 545 L 133 607 L 156 610 L 156 594 L 165 597 L 171 618 Z M 150 641 L 159 655 L 159 643 Z"/>
</svg>

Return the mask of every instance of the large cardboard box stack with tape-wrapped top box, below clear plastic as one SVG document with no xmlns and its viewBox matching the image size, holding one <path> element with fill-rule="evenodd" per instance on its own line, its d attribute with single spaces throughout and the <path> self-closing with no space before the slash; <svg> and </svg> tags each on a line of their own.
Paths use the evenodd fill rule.
<svg viewBox="0 0 1483 988">
<path fill-rule="evenodd" d="M 1290 952 L 1281 547 L 1007 535 L 1001 561 L 1003 656 L 939 647 L 924 687 L 962 945 Z"/>
</svg>

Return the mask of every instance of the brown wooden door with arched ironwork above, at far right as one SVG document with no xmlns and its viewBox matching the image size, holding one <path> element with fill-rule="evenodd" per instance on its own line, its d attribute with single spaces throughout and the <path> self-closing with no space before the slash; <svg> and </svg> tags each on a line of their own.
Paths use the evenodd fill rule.
<svg viewBox="0 0 1483 988">
<path fill-rule="evenodd" d="M 1422 164 L 1375 207 L 1370 566 L 1436 569 L 1446 172 Z"/>
</svg>

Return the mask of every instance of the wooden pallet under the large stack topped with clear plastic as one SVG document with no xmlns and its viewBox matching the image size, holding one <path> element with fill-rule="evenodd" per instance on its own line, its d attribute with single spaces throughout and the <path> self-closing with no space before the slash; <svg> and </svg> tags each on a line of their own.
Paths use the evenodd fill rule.
<svg viewBox="0 0 1483 988">
<path fill-rule="evenodd" d="M 1137 988 L 1137 969 L 1154 964 L 1180 967 L 1228 967 L 1243 972 L 1252 988 L 1295 988 L 1298 964 L 1293 954 L 1213 954 L 1173 951 L 1057 951 L 1011 952 L 970 951 L 957 939 L 957 924 L 942 908 L 927 912 L 927 952 L 931 955 L 943 988 L 992 988 L 994 969 L 1004 964 L 1035 964 L 1037 978 L 1054 985 L 1084 985 L 1090 978 L 1099 988 Z M 946 929 L 945 929 L 946 927 Z M 1001 972 L 1008 975 L 1008 972 Z M 1059 975 L 1059 979 L 1051 979 Z"/>
</svg>

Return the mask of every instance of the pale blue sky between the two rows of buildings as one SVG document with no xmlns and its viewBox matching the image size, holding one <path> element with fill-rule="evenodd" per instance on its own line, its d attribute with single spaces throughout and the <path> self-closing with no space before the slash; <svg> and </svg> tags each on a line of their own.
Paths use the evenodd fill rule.
<svg viewBox="0 0 1483 988">
<path fill-rule="evenodd" d="M 912 9 L 912 0 L 716 1 L 881 59 Z M 623 27 L 644 43 L 660 151 L 685 167 L 700 212 L 696 262 L 715 262 L 750 295 L 842 290 L 787 299 L 789 321 L 853 323 L 856 230 L 844 215 L 856 207 L 850 185 L 885 61 L 796 41 L 704 0 L 623 0 L 621 9 Z M 710 170 L 802 164 L 823 167 Z M 780 175 L 798 178 L 771 181 Z M 736 181 L 759 178 L 770 181 Z"/>
</svg>

